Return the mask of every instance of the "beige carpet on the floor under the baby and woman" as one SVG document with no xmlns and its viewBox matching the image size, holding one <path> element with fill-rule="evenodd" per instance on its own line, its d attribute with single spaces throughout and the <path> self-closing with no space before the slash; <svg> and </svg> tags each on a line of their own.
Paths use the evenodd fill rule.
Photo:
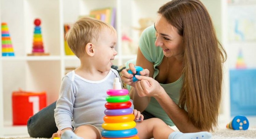
<svg viewBox="0 0 256 139">
<path fill-rule="evenodd" d="M 175 127 L 172 127 L 175 129 Z M 8 137 L 0 139 L 35 139 L 30 137 Z M 37 138 L 37 139 L 46 139 L 46 138 Z M 212 139 L 256 139 L 256 126 L 249 127 L 248 130 L 230 130 L 224 127 L 212 133 Z"/>
</svg>

